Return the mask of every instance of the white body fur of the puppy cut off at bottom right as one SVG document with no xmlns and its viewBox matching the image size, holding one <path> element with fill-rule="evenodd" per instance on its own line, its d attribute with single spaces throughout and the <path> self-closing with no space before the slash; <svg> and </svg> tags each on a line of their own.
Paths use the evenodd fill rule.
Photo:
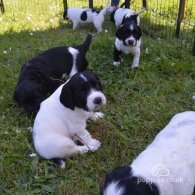
<svg viewBox="0 0 195 195">
<path fill-rule="evenodd" d="M 160 195 L 191 195 L 195 185 L 195 112 L 175 115 L 131 164 Z"/>
</svg>

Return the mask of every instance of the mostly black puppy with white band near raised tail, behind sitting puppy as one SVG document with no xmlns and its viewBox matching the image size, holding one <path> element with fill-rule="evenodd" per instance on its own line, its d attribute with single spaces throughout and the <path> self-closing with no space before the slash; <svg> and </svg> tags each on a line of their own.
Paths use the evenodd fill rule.
<svg viewBox="0 0 195 195">
<path fill-rule="evenodd" d="M 79 46 L 49 49 L 22 66 L 13 98 L 28 115 L 36 115 L 40 103 L 62 84 L 60 79 L 64 74 L 72 76 L 86 69 L 88 61 L 85 56 L 91 40 L 92 35 L 88 34 Z"/>
</svg>

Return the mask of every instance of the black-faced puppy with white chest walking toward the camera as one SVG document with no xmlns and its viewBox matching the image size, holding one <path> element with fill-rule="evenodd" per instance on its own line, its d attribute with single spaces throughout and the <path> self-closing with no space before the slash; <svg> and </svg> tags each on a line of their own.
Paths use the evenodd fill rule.
<svg viewBox="0 0 195 195">
<path fill-rule="evenodd" d="M 118 28 L 116 32 L 115 46 L 114 46 L 114 65 L 119 65 L 121 62 L 120 55 L 122 53 L 129 54 L 132 53 L 133 63 L 131 67 L 139 66 L 140 58 L 140 46 L 141 46 L 141 36 L 142 32 L 139 27 L 140 17 L 139 12 L 133 12 L 129 9 L 119 8 L 115 11 L 114 20 Z"/>
</svg>

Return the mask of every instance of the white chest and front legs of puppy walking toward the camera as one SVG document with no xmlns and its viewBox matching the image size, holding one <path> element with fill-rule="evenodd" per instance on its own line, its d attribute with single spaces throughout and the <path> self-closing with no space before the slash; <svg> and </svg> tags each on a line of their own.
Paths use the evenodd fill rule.
<svg viewBox="0 0 195 195">
<path fill-rule="evenodd" d="M 123 44 L 123 42 L 121 40 L 119 40 L 118 38 L 115 39 L 115 46 L 119 51 L 122 51 L 125 54 L 129 54 L 131 53 L 134 57 L 133 57 L 133 63 L 131 65 L 132 68 L 134 67 L 138 67 L 139 66 L 139 58 L 140 58 L 140 46 L 141 46 L 141 38 L 136 41 L 134 40 L 136 43 L 133 47 L 130 46 L 125 46 Z M 119 65 L 120 62 L 113 62 L 113 65 Z"/>
</svg>

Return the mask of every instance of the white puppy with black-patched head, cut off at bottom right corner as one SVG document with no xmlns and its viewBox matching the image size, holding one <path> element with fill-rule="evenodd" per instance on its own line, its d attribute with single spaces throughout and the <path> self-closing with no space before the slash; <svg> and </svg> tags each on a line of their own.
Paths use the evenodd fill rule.
<svg viewBox="0 0 195 195">
<path fill-rule="evenodd" d="M 103 195 L 191 195 L 195 186 L 195 112 L 175 115 L 130 166 L 106 176 Z"/>
</svg>

